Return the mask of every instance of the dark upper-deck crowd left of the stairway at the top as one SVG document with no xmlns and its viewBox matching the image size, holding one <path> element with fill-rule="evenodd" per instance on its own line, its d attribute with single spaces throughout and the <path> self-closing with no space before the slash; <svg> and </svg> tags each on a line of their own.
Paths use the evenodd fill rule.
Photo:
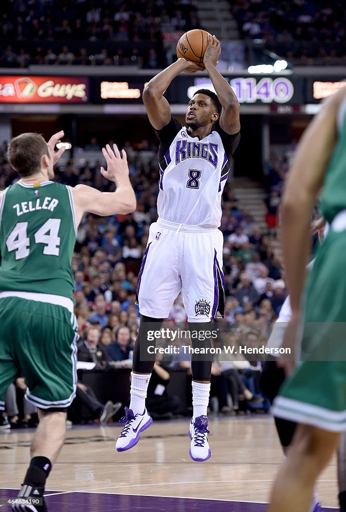
<svg viewBox="0 0 346 512">
<path fill-rule="evenodd" d="M 199 28 L 190 0 L 2 0 L 0 60 L 37 65 L 165 65 L 162 33 Z"/>
</svg>

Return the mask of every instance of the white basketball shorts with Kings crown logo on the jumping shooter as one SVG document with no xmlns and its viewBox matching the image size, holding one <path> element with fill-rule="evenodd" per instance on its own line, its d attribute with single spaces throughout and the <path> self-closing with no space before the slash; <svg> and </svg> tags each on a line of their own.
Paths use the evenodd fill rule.
<svg viewBox="0 0 346 512">
<path fill-rule="evenodd" d="M 154 222 L 138 275 L 139 312 L 167 318 L 181 291 L 189 322 L 209 322 L 217 312 L 223 316 L 222 248 L 217 228 Z"/>
</svg>

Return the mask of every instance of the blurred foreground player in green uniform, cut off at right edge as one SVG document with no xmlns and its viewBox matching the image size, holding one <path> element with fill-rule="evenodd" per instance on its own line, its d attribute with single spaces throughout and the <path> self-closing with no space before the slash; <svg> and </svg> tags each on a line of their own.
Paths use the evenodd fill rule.
<svg viewBox="0 0 346 512">
<path fill-rule="evenodd" d="M 309 274 L 302 362 L 274 400 L 273 414 L 298 423 L 274 483 L 269 512 L 307 512 L 317 476 L 346 430 L 346 91 L 328 98 L 304 134 L 282 200 L 282 245 L 292 320 L 283 346 L 294 352 L 301 291 L 309 258 L 311 211 L 323 184 L 321 209 L 330 231 Z M 307 356 L 309 354 L 309 357 Z M 289 369 L 292 361 L 283 362 Z"/>
</svg>

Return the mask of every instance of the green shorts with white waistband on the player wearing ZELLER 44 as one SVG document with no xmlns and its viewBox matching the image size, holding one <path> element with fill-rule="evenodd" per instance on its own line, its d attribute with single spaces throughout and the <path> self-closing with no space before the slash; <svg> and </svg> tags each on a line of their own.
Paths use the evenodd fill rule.
<svg viewBox="0 0 346 512">
<path fill-rule="evenodd" d="M 0 294 L 0 326 L 0 410 L 8 386 L 19 376 L 25 377 L 26 398 L 36 407 L 69 407 L 77 382 L 73 311 Z"/>
</svg>

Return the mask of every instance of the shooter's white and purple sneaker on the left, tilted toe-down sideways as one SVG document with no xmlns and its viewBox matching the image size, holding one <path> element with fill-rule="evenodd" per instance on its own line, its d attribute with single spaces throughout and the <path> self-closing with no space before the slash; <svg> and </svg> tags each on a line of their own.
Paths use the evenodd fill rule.
<svg viewBox="0 0 346 512">
<path fill-rule="evenodd" d="M 148 414 L 147 409 L 143 414 L 133 414 L 132 409 L 125 407 L 125 416 L 119 420 L 120 423 L 125 423 L 121 431 L 115 447 L 117 452 L 126 452 L 130 450 L 139 441 L 139 434 L 150 426 L 153 422 L 151 416 Z"/>
</svg>

